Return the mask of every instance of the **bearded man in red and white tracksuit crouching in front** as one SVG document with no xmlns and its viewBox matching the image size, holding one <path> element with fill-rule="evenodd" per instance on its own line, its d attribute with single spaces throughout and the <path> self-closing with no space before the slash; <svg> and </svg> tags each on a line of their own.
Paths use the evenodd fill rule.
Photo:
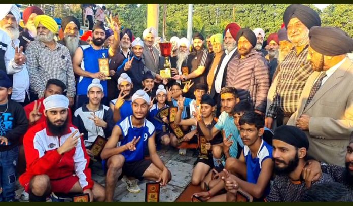
<svg viewBox="0 0 353 206">
<path fill-rule="evenodd" d="M 68 98 L 55 94 L 43 104 L 46 121 L 30 128 L 23 140 L 27 170 L 19 181 L 29 201 L 46 201 L 51 192 L 83 192 L 91 201 L 104 201 L 104 188 L 91 178 L 82 134 L 68 123 Z"/>
</svg>

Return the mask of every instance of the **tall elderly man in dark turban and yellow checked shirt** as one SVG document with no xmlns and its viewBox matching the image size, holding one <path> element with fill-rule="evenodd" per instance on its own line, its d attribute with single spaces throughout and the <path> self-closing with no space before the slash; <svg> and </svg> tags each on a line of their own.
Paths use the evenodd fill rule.
<svg viewBox="0 0 353 206">
<path fill-rule="evenodd" d="M 288 39 L 294 48 L 277 68 L 278 84 L 266 115 L 266 127 L 271 128 L 273 118 L 283 114 L 281 124 L 286 124 L 289 117 L 297 110 L 300 94 L 303 91 L 306 80 L 313 72 L 310 62 L 306 59 L 309 47 L 309 29 L 312 26 L 320 26 L 321 20 L 310 7 L 301 4 L 292 4 L 283 14 L 283 21 L 287 28 Z M 280 125 L 281 125 L 280 124 Z"/>
</svg>

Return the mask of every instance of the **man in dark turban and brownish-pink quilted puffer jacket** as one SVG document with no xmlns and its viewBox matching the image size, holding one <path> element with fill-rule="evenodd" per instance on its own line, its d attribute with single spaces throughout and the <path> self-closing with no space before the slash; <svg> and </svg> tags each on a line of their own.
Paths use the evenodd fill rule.
<svg viewBox="0 0 353 206">
<path fill-rule="evenodd" d="M 253 49 L 256 36 L 250 29 L 240 29 L 236 41 L 238 54 L 228 64 L 226 86 L 236 88 L 240 101 L 252 102 L 255 112 L 264 114 L 269 89 L 268 62 Z"/>
</svg>

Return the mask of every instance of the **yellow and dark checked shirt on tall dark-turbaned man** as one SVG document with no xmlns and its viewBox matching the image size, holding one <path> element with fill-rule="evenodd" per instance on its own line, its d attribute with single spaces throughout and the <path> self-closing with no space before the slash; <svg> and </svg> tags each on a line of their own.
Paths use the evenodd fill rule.
<svg viewBox="0 0 353 206">
<path fill-rule="evenodd" d="M 278 65 L 278 83 L 273 103 L 267 112 L 268 117 L 274 118 L 278 111 L 294 113 L 297 110 L 306 80 L 313 72 L 310 62 L 307 61 L 308 47 L 309 45 L 299 55 L 294 47 Z"/>
</svg>

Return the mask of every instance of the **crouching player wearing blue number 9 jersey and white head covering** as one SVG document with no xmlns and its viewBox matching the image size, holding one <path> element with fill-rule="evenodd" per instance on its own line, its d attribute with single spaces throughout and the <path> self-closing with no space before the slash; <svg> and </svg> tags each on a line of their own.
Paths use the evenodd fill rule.
<svg viewBox="0 0 353 206">
<path fill-rule="evenodd" d="M 164 166 L 156 152 L 155 127 L 146 119 L 150 97 L 143 90 L 137 90 L 132 96 L 131 116 L 118 122 L 112 136 L 101 153 L 101 158 L 107 160 L 107 177 L 105 194 L 107 201 L 113 201 L 114 189 L 121 174 L 142 180 L 144 178 L 160 182 L 165 186 L 171 180 L 171 173 Z M 121 144 L 117 147 L 119 138 Z M 150 159 L 144 159 L 148 149 Z M 131 192 L 139 192 L 136 180 L 125 180 Z M 139 189 L 139 190 L 138 190 Z"/>
</svg>

